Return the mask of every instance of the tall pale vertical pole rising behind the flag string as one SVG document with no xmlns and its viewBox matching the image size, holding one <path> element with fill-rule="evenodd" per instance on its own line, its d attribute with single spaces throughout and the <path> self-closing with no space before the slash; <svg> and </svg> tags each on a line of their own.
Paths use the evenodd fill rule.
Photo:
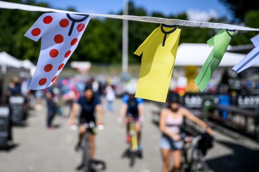
<svg viewBox="0 0 259 172">
<path fill-rule="evenodd" d="M 123 15 L 128 15 L 128 0 L 123 0 Z M 128 74 L 128 20 L 122 25 L 122 73 Z"/>
</svg>

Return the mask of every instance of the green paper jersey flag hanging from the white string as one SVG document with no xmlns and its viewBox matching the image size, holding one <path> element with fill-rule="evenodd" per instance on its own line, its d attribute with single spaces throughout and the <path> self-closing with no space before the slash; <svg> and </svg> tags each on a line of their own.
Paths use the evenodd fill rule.
<svg viewBox="0 0 259 172">
<path fill-rule="evenodd" d="M 203 91 L 208 85 L 212 73 L 219 66 L 234 33 L 235 30 L 221 29 L 216 35 L 207 41 L 208 45 L 210 47 L 214 46 L 214 48 L 206 59 L 204 65 L 201 67 L 200 73 L 194 79 L 194 82 L 201 91 Z"/>
</svg>

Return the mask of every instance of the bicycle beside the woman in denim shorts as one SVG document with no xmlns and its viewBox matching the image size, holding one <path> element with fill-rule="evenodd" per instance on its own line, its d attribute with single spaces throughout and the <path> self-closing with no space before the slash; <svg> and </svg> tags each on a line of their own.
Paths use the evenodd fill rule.
<svg viewBox="0 0 259 172">
<path fill-rule="evenodd" d="M 198 149 L 198 143 L 201 139 L 201 135 L 196 137 L 184 135 L 182 148 L 183 156 L 180 168 L 182 172 L 209 172 L 209 167 L 204 161 L 203 154 L 201 150 Z M 188 159 L 188 152 L 190 153 L 190 160 Z"/>
</svg>

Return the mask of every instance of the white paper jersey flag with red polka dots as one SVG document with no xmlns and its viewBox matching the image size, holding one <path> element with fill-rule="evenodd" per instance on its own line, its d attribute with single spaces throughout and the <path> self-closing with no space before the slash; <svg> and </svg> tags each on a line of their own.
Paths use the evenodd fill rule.
<svg viewBox="0 0 259 172">
<path fill-rule="evenodd" d="M 49 87 L 76 49 L 90 17 L 88 15 L 45 13 L 24 36 L 38 41 L 41 48 L 29 89 Z"/>
</svg>

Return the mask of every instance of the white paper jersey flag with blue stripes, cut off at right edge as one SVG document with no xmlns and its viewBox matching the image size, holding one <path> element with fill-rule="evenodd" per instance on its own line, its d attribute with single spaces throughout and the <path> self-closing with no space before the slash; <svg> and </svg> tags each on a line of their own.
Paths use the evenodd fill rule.
<svg viewBox="0 0 259 172">
<path fill-rule="evenodd" d="M 250 39 L 255 48 L 252 49 L 244 58 L 238 62 L 232 69 L 237 73 L 242 72 L 259 62 L 259 34 Z"/>
</svg>

